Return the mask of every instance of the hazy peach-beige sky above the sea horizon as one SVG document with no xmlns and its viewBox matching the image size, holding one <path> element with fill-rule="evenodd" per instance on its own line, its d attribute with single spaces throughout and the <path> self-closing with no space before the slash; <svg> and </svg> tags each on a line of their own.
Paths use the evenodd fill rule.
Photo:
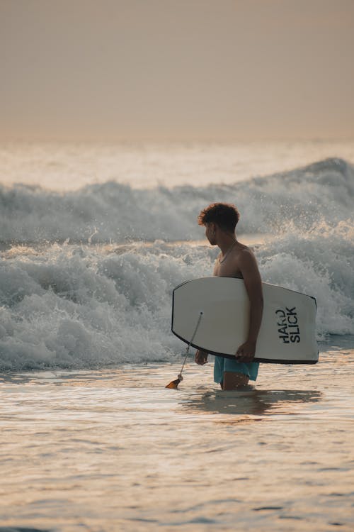
<svg viewBox="0 0 354 532">
<path fill-rule="evenodd" d="M 0 0 L 0 137 L 354 138 L 354 0 Z"/>
</svg>

